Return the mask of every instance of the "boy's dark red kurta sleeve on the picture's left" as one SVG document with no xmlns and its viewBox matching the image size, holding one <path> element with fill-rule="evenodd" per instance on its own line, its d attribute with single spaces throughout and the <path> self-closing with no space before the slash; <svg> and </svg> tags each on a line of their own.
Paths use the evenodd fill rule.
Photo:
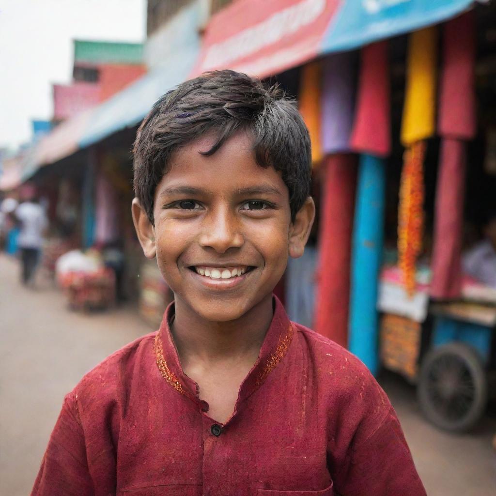
<svg viewBox="0 0 496 496">
<path fill-rule="evenodd" d="M 64 398 L 31 496 L 90 496 L 94 493 L 77 400 L 69 393 Z"/>
</svg>

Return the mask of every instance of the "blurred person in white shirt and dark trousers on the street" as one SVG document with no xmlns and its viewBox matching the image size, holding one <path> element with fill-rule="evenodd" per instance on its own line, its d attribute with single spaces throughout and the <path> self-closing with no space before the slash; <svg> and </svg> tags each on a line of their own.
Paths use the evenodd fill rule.
<svg viewBox="0 0 496 496">
<path fill-rule="evenodd" d="M 33 185 L 24 185 L 20 195 L 21 203 L 14 211 L 14 219 L 19 226 L 17 244 L 21 260 L 21 282 L 27 285 L 34 280 L 48 221 Z"/>
</svg>

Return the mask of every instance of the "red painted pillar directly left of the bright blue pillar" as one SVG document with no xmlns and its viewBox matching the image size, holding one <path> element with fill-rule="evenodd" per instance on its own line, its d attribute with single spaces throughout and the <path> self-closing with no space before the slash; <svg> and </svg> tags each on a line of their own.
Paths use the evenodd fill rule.
<svg viewBox="0 0 496 496">
<path fill-rule="evenodd" d="M 345 153 L 331 155 L 323 166 L 314 329 L 346 348 L 356 157 Z"/>
</svg>

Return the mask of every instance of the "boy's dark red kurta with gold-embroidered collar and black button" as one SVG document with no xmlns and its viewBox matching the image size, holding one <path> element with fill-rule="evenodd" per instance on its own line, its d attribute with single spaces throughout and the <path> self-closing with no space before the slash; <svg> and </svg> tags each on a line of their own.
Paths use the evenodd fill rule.
<svg viewBox="0 0 496 496">
<path fill-rule="evenodd" d="M 197 390 L 164 318 L 65 397 L 32 494 L 425 495 L 372 375 L 277 300 L 225 425 Z"/>
</svg>

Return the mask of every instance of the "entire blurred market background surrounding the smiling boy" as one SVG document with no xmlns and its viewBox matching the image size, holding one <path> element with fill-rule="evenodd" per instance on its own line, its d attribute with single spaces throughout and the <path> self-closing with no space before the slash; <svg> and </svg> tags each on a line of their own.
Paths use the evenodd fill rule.
<svg viewBox="0 0 496 496">
<path fill-rule="evenodd" d="M 318 214 L 276 288 L 355 353 L 430 495 L 496 495 L 496 6 L 0 0 L 0 493 L 30 492 L 65 393 L 158 327 L 131 147 L 233 68 L 294 96 Z"/>
</svg>

